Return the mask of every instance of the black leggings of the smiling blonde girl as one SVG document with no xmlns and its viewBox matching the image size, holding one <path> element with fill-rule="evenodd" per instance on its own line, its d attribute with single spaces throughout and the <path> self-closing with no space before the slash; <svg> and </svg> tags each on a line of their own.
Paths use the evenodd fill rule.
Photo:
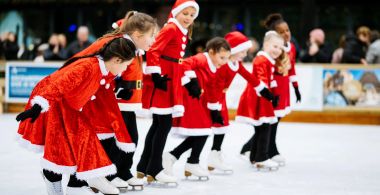
<svg viewBox="0 0 380 195">
<path fill-rule="evenodd" d="M 250 160 L 262 162 L 269 159 L 270 125 L 264 123 L 255 127 L 255 135 L 252 140 Z"/>
</svg>

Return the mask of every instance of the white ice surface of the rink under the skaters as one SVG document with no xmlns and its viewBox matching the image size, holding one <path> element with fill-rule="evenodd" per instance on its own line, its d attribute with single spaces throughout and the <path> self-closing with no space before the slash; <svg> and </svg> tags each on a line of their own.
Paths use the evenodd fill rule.
<svg viewBox="0 0 380 195">
<path fill-rule="evenodd" d="M 14 141 L 18 125 L 15 116 L 0 115 L 0 194 L 46 194 L 40 155 Z M 150 120 L 138 120 L 140 145 L 134 164 L 140 158 L 150 124 Z M 252 134 L 253 129 L 247 125 L 232 123 L 230 127 L 223 151 L 226 161 L 234 167 L 233 175 L 212 174 L 207 182 L 184 180 L 186 153 L 174 167 L 178 188 L 145 187 L 142 192 L 127 194 L 380 194 L 380 126 L 281 123 L 277 143 L 287 165 L 276 172 L 258 172 L 239 155 Z M 180 141 L 169 136 L 165 150 Z M 204 166 L 211 148 L 209 141 L 201 155 Z"/>
</svg>

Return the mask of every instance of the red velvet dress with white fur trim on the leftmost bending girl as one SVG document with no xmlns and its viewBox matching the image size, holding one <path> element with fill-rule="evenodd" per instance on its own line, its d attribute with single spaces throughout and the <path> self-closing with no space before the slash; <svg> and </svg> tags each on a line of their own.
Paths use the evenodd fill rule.
<svg viewBox="0 0 380 195">
<path fill-rule="evenodd" d="M 112 79 L 104 61 L 90 57 L 45 77 L 33 89 L 26 109 L 38 104 L 42 112 L 34 123 L 22 121 L 18 133 L 24 145 L 44 152 L 42 168 L 60 174 L 76 172 L 83 180 L 116 173 L 94 131 L 94 118 L 100 116 L 105 131 L 114 132 L 123 146 L 134 149 L 128 144 L 131 138 L 122 130 L 123 123 L 115 123 L 118 116 L 99 110 L 88 114 L 95 100 L 104 98 L 99 91 L 109 90 Z M 116 100 L 102 103 L 117 108 Z"/>
</svg>

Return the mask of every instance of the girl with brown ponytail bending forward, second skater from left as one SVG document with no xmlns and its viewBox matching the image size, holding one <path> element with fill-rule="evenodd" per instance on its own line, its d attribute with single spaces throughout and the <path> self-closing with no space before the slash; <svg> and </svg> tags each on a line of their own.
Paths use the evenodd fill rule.
<svg viewBox="0 0 380 195">
<path fill-rule="evenodd" d="M 78 53 L 77 56 L 92 53 L 117 37 L 124 37 L 134 43 L 137 49 L 135 59 L 128 66 L 127 70 L 116 79 L 116 84 L 114 82 L 111 83 L 112 87 L 110 88 L 114 89 L 116 93 L 122 114 L 122 117 L 119 118 L 121 120 L 117 122 L 125 123 L 125 126 L 127 127 L 126 129 L 131 135 L 133 143 L 137 145 L 138 133 L 134 112 L 141 109 L 142 55 L 144 54 L 144 51 L 149 49 L 154 40 L 154 32 L 157 24 L 155 19 L 147 14 L 129 11 L 124 19 L 118 20 L 112 26 L 115 28 L 113 32 L 104 35 L 88 48 Z M 103 93 L 105 92 L 109 95 L 101 97 L 108 97 L 108 101 L 116 101 L 114 94 L 111 93 L 112 90 L 103 89 Z M 110 107 L 102 105 L 101 102 L 103 102 L 103 100 L 100 100 L 99 104 L 95 104 L 93 110 L 109 110 Z M 119 109 L 116 108 L 109 111 L 113 112 L 118 110 Z M 102 122 L 103 120 L 99 118 L 99 120 L 94 121 Z M 118 140 L 114 139 L 114 134 L 112 132 L 104 132 L 102 129 L 97 129 L 97 135 L 117 168 L 117 174 L 109 176 L 107 179 L 123 190 L 126 189 L 128 185 L 132 186 L 133 190 L 137 189 L 137 187 L 142 190 L 143 180 L 133 177 L 130 171 L 133 164 L 134 153 L 125 152 L 123 147 L 120 147 Z"/>
</svg>

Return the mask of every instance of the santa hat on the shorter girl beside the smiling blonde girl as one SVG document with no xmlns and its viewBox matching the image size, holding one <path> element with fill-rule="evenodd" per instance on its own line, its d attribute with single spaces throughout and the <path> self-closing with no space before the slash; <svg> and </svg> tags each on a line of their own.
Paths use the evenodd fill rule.
<svg viewBox="0 0 380 195">
<path fill-rule="evenodd" d="M 252 41 L 238 31 L 230 32 L 224 38 L 230 44 L 232 55 L 252 47 Z"/>
</svg>

